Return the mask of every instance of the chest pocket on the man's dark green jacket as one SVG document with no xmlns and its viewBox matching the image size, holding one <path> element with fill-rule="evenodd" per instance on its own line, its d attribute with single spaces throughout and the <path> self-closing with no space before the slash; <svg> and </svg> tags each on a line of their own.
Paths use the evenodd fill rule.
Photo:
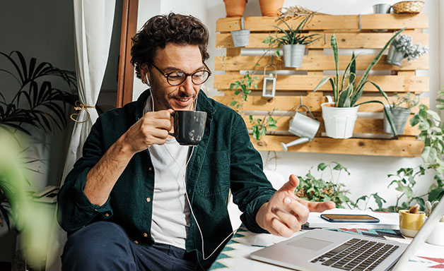
<svg viewBox="0 0 444 271">
<path fill-rule="evenodd" d="M 196 192 L 204 197 L 228 195 L 230 188 L 230 158 L 225 150 L 211 152 L 202 162 Z"/>
</svg>

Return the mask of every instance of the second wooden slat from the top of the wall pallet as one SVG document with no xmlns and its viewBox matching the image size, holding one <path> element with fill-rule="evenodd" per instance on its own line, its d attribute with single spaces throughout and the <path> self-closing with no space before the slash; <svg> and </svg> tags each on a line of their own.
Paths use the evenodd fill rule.
<svg viewBox="0 0 444 271">
<path fill-rule="evenodd" d="M 269 33 L 251 33 L 250 44 L 245 48 L 267 48 L 263 41 L 269 37 Z M 325 33 L 320 40 L 307 45 L 307 48 L 330 48 L 330 36 L 332 33 Z M 419 42 L 422 46 L 428 45 L 428 34 L 411 33 L 414 43 Z M 280 36 L 280 35 L 278 35 Z M 336 33 L 338 47 L 340 49 L 382 49 L 393 33 Z M 216 47 L 231 48 L 234 47 L 233 39 L 230 33 L 216 34 Z"/>
</svg>

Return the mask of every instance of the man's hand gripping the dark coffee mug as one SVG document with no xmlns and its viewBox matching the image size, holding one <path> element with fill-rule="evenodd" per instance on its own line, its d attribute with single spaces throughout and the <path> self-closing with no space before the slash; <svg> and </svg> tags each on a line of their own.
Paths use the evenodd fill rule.
<svg viewBox="0 0 444 271">
<path fill-rule="evenodd" d="M 153 144 L 162 145 L 171 130 L 173 109 L 147 112 L 124 135 L 124 142 L 133 153 L 146 150 Z"/>
</svg>

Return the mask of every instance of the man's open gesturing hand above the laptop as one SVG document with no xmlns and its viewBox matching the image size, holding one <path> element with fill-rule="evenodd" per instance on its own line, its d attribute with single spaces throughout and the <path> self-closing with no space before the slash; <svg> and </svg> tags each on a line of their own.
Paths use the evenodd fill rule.
<svg viewBox="0 0 444 271">
<path fill-rule="evenodd" d="M 259 227 L 277 236 L 290 237 L 307 222 L 310 212 L 334 208 L 332 201 L 318 203 L 301 200 L 294 194 L 298 185 L 298 177 L 291 174 L 288 182 L 260 207 L 256 214 Z"/>
</svg>

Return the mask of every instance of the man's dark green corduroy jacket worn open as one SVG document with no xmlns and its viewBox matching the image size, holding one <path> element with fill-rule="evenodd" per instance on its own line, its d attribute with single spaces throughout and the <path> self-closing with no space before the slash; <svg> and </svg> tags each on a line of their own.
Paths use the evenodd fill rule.
<svg viewBox="0 0 444 271">
<path fill-rule="evenodd" d="M 83 188 L 88 171 L 107 149 L 142 116 L 149 91 L 136 102 L 103 113 L 91 128 L 83 146 L 83 157 L 74 164 L 59 191 L 58 220 L 67 232 L 87 224 L 105 220 L 122 226 L 129 237 L 142 246 L 151 246 L 151 210 L 154 172 L 148 150 L 138 152 L 112 188 L 102 205 L 90 203 Z M 232 231 L 227 211 L 228 190 L 233 193 L 243 215 L 240 217 L 250 231 L 261 229 L 255 216 L 259 207 L 275 192 L 262 171 L 262 159 L 250 143 L 245 123 L 233 109 L 199 93 L 197 110 L 207 112 L 204 137 L 195 147 L 187 167 L 187 192 L 204 235 L 205 256 Z M 215 260 L 202 260 L 201 236 L 191 219 L 186 240 L 188 252 L 196 251 L 204 268 Z M 221 246 L 218 251 L 221 251 Z"/>
</svg>

